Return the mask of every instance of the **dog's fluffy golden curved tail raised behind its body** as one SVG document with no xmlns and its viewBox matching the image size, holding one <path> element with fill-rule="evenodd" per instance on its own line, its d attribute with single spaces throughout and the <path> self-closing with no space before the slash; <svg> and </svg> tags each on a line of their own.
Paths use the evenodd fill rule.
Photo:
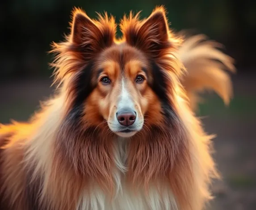
<svg viewBox="0 0 256 210">
<path fill-rule="evenodd" d="M 218 48 L 221 44 L 207 40 L 204 35 L 191 36 L 179 49 L 179 56 L 187 73 L 182 78 L 192 109 L 200 101 L 199 93 L 214 90 L 228 104 L 233 89 L 229 74 L 224 69 L 235 73 L 233 59 Z"/>
</svg>

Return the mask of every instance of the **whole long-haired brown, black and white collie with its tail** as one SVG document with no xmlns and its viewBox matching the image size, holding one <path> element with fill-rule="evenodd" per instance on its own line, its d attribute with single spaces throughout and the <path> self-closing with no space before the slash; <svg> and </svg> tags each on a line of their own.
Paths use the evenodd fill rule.
<svg viewBox="0 0 256 210">
<path fill-rule="evenodd" d="M 228 103 L 235 71 L 219 44 L 186 39 L 165 10 L 113 16 L 75 8 L 53 44 L 53 98 L 0 127 L 1 210 L 201 210 L 218 177 L 194 110 L 212 89 Z"/>
</svg>

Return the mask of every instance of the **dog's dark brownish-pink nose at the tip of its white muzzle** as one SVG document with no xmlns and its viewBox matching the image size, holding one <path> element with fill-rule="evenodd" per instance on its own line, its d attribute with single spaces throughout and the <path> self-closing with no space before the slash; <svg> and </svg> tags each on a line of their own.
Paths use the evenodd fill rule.
<svg viewBox="0 0 256 210">
<path fill-rule="evenodd" d="M 117 112 L 117 118 L 121 125 L 129 126 L 134 124 L 136 113 L 132 109 L 121 109 Z"/>
</svg>

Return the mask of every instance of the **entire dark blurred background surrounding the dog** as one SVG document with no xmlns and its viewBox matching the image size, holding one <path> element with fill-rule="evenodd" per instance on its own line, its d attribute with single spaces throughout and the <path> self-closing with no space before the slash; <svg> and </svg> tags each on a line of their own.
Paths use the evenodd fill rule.
<svg viewBox="0 0 256 210">
<path fill-rule="evenodd" d="M 223 181 L 213 185 L 208 209 L 256 209 L 256 1 L 253 0 L 2 0 L 0 3 L 0 123 L 19 121 L 51 93 L 47 54 L 52 41 L 68 33 L 73 6 L 90 17 L 107 11 L 118 20 L 130 10 L 148 16 L 157 5 L 168 9 L 171 27 L 204 33 L 235 58 L 234 99 L 224 106 L 208 94 L 198 115 L 214 139 Z"/>
</svg>

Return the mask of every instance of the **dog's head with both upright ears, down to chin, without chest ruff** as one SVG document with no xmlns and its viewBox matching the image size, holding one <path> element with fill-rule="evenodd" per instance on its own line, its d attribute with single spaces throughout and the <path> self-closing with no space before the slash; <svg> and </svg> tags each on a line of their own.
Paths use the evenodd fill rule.
<svg viewBox="0 0 256 210">
<path fill-rule="evenodd" d="M 143 21 L 124 18 L 121 29 L 123 38 L 116 40 L 112 17 L 96 21 L 74 12 L 69 53 L 80 70 L 69 69 L 71 109 L 79 107 L 84 125 L 131 137 L 160 126 L 168 114 L 169 78 L 161 65 L 172 63 L 168 52 L 178 41 L 170 39 L 162 8 Z"/>
</svg>

